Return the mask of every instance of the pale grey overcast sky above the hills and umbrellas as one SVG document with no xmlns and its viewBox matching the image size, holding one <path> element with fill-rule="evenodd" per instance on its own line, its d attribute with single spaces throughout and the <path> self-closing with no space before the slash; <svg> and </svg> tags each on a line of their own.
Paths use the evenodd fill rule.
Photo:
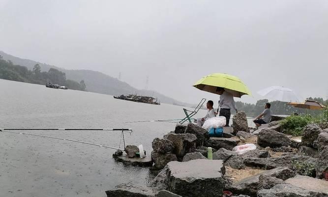
<svg viewBox="0 0 328 197">
<path fill-rule="evenodd" d="M 0 0 L 0 50 L 189 103 L 218 100 L 191 86 L 213 72 L 244 102 L 274 85 L 326 98 L 328 0 Z"/>
</svg>

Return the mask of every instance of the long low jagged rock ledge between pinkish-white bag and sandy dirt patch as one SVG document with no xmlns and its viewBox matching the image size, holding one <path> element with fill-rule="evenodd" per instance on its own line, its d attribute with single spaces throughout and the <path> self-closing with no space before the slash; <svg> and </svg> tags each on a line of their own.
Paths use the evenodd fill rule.
<svg viewBox="0 0 328 197">
<path fill-rule="evenodd" d="M 273 169 L 276 167 L 293 168 L 294 163 L 297 162 L 307 164 L 307 166 L 310 167 L 310 165 L 315 166 L 317 160 L 305 155 L 285 153 L 284 155 L 275 158 L 245 158 L 243 161 L 247 166 L 260 167 L 263 169 Z"/>
</svg>

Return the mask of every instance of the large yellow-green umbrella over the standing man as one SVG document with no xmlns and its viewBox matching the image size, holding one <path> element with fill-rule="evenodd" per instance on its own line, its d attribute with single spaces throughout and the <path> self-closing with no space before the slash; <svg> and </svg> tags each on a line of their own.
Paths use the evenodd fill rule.
<svg viewBox="0 0 328 197">
<path fill-rule="evenodd" d="M 247 86 L 238 77 L 230 74 L 212 73 L 198 80 L 193 86 L 214 94 L 218 94 L 217 87 L 222 87 L 234 97 L 252 96 Z"/>
</svg>

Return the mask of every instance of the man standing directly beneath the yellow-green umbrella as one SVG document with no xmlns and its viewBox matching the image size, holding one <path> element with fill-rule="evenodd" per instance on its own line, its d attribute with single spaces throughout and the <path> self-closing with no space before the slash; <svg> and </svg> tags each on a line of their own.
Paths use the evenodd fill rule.
<svg viewBox="0 0 328 197">
<path fill-rule="evenodd" d="M 234 96 L 227 91 L 224 90 L 224 88 L 218 87 L 216 89 L 216 92 L 220 95 L 220 102 L 219 102 L 219 107 L 220 107 L 220 114 L 219 116 L 224 116 L 226 117 L 226 125 L 225 127 L 229 127 L 229 121 L 230 121 L 230 116 L 231 112 L 230 109 L 234 108 L 236 110 L 236 113 L 238 112 L 236 103 L 234 100 Z"/>
</svg>

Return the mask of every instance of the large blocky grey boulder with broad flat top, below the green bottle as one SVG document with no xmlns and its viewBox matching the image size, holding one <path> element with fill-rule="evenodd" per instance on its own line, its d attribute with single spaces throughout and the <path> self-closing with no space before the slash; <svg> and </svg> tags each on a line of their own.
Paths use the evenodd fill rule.
<svg viewBox="0 0 328 197">
<path fill-rule="evenodd" d="M 168 191 L 182 197 L 217 197 L 224 188 L 220 160 L 191 160 L 168 164 Z"/>
</svg>

